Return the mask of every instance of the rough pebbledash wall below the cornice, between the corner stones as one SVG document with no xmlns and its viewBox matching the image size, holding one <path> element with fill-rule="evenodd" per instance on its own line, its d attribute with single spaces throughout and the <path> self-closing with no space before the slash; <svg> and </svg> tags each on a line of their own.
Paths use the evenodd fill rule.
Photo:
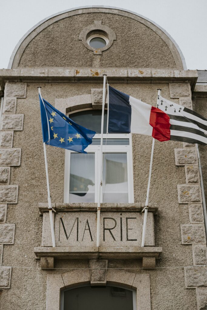
<svg viewBox="0 0 207 310">
<path fill-rule="evenodd" d="M 170 100 L 169 84 L 110 85 L 154 106 L 157 89 L 162 88 L 162 96 Z M 55 103 L 56 98 L 90 94 L 91 88 L 101 88 L 99 83 L 40 83 L 40 86 L 43 97 L 51 104 Z M 177 103 L 178 100 L 173 99 Z M 42 239 L 42 217 L 38 212 L 38 203 L 47 202 L 36 83 L 27 83 L 27 97 L 17 99 L 16 114 L 24 114 L 23 132 L 15 131 L 13 141 L 14 148 L 21 148 L 21 165 L 11 167 L 10 184 L 19 185 L 19 197 L 16 205 L 8 204 L 7 207 L 7 223 L 16 224 L 16 234 L 13 245 L 4 245 L 2 265 L 32 268 L 12 268 L 11 289 L 3 290 L 0 298 L 4 310 L 43 310 L 47 275 L 61 274 L 67 269 L 41 270 L 40 261 L 34 256 L 34 247 L 41 246 Z M 151 145 L 151 137 L 133 135 L 135 202 L 145 201 Z M 142 267 L 141 260 L 108 262 L 109 268 L 126 268 L 130 272 L 150 274 L 152 310 L 197 308 L 196 290 L 186 289 L 184 268 L 181 267 L 193 265 L 192 246 L 181 244 L 180 224 L 189 224 L 189 211 L 187 203 L 178 203 L 177 184 L 186 184 L 186 178 L 184 166 L 175 165 L 174 148 L 182 147 L 180 142 L 155 141 L 149 202 L 157 202 L 159 205 L 158 215 L 155 216 L 155 246 L 163 247 L 161 258 L 157 262 L 157 267 L 160 268 L 139 269 Z M 48 168 L 52 202 L 63 201 L 64 159 L 63 149 L 50 148 Z M 88 260 L 84 259 L 55 260 L 55 268 L 88 267 Z"/>
</svg>

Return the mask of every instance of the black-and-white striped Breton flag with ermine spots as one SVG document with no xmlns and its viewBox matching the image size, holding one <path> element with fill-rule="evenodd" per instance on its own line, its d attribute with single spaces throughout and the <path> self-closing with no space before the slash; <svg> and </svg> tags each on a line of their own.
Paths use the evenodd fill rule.
<svg viewBox="0 0 207 310">
<path fill-rule="evenodd" d="M 170 117 L 170 140 L 207 144 L 205 117 L 162 96 L 158 98 L 157 108 Z"/>
</svg>

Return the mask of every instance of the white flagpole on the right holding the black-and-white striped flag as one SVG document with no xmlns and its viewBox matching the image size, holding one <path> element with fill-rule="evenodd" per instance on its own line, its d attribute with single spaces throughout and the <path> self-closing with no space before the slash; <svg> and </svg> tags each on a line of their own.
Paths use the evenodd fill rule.
<svg viewBox="0 0 207 310">
<path fill-rule="evenodd" d="M 161 89 L 158 89 L 157 104 L 158 104 L 158 98 L 160 96 L 160 91 L 161 91 Z M 150 181 L 151 181 L 151 174 L 152 174 L 152 162 L 153 162 L 154 147 L 155 147 L 155 138 L 153 138 L 153 140 L 152 140 L 152 151 L 151 151 L 151 160 L 150 160 L 149 179 L 148 179 L 147 192 L 146 192 L 146 201 L 145 201 L 145 207 L 142 210 L 142 212 L 145 212 L 143 229 L 142 229 L 142 246 L 145 246 L 146 219 L 147 219 L 147 209 L 148 209 L 148 204 L 149 204 Z"/>
</svg>

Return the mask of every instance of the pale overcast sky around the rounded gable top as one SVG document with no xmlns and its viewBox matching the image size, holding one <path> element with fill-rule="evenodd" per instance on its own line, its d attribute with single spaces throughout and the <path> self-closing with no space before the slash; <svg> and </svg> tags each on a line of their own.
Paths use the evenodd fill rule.
<svg viewBox="0 0 207 310">
<path fill-rule="evenodd" d="M 207 69 L 207 0 L 0 0 L 0 68 L 21 37 L 40 20 L 80 6 L 120 7 L 143 15 L 173 37 L 187 69 Z"/>
</svg>

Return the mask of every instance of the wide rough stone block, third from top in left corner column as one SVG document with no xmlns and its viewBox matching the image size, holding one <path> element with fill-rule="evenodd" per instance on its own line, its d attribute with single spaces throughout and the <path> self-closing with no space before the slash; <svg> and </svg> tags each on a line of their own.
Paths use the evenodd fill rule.
<svg viewBox="0 0 207 310">
<path fill-rule="evenodd" d="M 24 114 L 3 114 L 1 129 L 23 130 Z"/>
</svg>

